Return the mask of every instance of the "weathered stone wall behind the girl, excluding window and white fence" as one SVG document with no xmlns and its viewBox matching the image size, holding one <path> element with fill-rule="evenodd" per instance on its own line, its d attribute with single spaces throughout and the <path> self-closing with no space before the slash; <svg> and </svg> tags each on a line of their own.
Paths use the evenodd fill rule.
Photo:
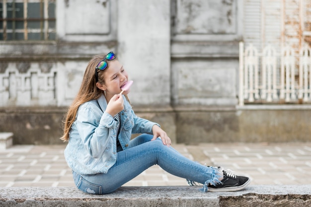
<svg viewBox="0 0 311 207">
<path fill-rule="evenodd" d="M 56 0 L 56 6 L 57 41 L 0 42 L 0 131 L 13 132 L 15 144 L 60 143 L 88 60 L 110 51 L 134 80 L 129 96 L 137 114 L 159 122 L 174 142 L 266 141 L 263 131 L 254 138 L 244 129 L 256 131 L 250 117 L 270 114 L 236 109 L 241 0 Z M 301 116 L 308 120 L 308 113 Z M 296 116 L 285 114 L 274 118 Z"/>
</svg>

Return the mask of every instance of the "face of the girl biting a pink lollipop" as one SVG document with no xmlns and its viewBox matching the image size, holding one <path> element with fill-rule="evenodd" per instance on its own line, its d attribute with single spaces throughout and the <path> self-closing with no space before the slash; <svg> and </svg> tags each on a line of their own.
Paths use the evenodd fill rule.
<svg viewBox="0 0 311 207">
<path fill-rule="evenodd" d="M 112 97 L 122 91 L 121 86 L 128 81 L 128 73 L 117 60 L 108 61 L 108 68 L 105 70 L 103 86 L 106 89 L 106 96 Z M 130 90 L 124 91 L 123 94 L 129 92 Z"/>
</svg>

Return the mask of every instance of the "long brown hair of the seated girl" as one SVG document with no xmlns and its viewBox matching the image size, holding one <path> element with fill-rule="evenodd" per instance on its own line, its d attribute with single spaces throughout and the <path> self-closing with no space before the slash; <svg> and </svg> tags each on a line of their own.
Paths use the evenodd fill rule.
<svg viewBox="0 0 311 207">
<path fill-rule="evenodd" d="M 76 119 L 79 106 L 87 101 L 98 99 L 102 95 L 102 90 L 96 86 L 95 68 L 104 57 L 104 55 L 96 55 L 87 64 L 78 94 L 66 114 L 64 134 L 63 137 L 61 137 L 64 141 L 69 140 L 70 128 Z M 98 72 L 98 82 L 100 83 L 103 83 L 103 74 L 104 70 Z"/>
</svg>

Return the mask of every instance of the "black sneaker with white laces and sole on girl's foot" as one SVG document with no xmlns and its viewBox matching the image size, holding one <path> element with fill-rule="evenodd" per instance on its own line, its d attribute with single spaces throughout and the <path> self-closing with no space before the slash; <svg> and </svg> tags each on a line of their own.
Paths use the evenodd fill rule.
<svg viewBox="0 0 311 207">
<path fill-rule="evenodd" d="M 221 191 L 239 191 L 246 188 L 250 179 L 244 176 L 237 176 L 231 170 L 224 170 L 224 179 L 221 181 L 222 184 L 216 184 L 216 186 L 208 185 L 208 191 L 210 192 L 221 192 Z"/>
</svg>

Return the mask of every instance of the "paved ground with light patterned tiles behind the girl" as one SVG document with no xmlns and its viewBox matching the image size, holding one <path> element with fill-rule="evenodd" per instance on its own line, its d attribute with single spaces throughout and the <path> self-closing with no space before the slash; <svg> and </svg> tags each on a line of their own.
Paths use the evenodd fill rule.
<svg viewBox="0 0 311 207">
<path fill-rule="evenodd" d="M 174 144 L 186 157 L 249 176 L 251 185 L 311 183 L 311 142 Z M 72 187 L 65 145 L 14 145 L 0 152 L 0 187 Z M 125 186 L 183 186 L 185 179 L 153 166 Z"/>
</svg>

